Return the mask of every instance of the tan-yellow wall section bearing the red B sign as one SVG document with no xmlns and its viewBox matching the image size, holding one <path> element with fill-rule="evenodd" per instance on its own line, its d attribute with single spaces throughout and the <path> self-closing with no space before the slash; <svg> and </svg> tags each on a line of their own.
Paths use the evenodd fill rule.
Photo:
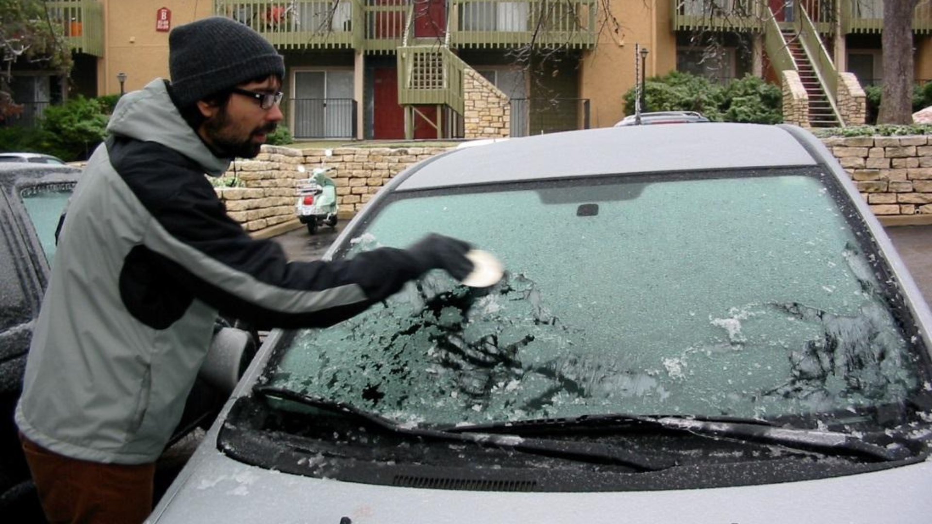
<svg viewBox="0 0 932 524">
<path fill-rule="evenodd" d="M 104 52 L 97 69 L 99 95 L 119 92 L 119 72 L 127 75 L 127 91 L 141 89 L 158 76 L 169 77 L 169 34 L 156 31 L 159 7 L 171 9 L 172 28 L 213 12 L 211 0 L 103 0 Z"/>
</svg>

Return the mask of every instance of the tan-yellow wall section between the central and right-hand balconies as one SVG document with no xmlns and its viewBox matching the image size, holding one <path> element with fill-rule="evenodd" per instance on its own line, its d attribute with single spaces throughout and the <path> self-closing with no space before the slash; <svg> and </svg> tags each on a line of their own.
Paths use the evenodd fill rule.
<svg viewBox="0 0 932 524">
<path fill-rule="evenodd" d="M 647 76 L 676 68 L 676 37 L 670 31 L 669 0 L 611 0 L 614 21 L 600 16 L 598 45 L 583 58 L 580 96 L 590 100 L 592 127 L 610 127 L 624 117 L 624 92 L 635 85 L 635 44 L 648 49 Z M 601 4 L 599 7 L 604 4 Z"/>
</svg>

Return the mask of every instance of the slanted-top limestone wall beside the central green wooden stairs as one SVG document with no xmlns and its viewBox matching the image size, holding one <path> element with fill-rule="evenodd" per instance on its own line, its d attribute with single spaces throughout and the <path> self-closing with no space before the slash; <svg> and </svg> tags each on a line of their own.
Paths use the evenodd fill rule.
<svg viewBox="0 0 932 524">
<path fill-rule="evenodd" d="M 472 68 L 466 68 L 463 74 L 463 98 L 465 138 L 511 136 L 512 106 L 508 96 Z"/>
</svg>

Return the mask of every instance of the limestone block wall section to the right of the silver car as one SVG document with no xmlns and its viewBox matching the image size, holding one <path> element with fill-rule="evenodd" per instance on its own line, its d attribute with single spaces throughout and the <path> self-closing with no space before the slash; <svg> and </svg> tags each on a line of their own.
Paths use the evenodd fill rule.
<svg viewBox="0 0 932 524">
<path fill-rule="evenodd" d="M 879 216 L 932 214 L 932 139 L 921 136 L 827 138 Z"/>
</svg>

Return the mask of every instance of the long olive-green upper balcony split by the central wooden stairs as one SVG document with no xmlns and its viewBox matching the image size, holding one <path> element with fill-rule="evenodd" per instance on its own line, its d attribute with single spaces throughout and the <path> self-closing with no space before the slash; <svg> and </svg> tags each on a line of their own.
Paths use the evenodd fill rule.
<svg viewBox="0 0 932 524">
<path fill-rule="evenodd" d="M 87 1 L 87 0 L 86 0 Z M 534 45 L 592 48 L 597 0 L 447 0 L 441 14 L 452 47 Z M 393 53 L 410 31 L 414 0 L 214 0 L 276 48 L 352 48 Z M 56 4 L 71 4 L 57 2 Z M 442 11 L 441 11 L 442 12 Z M 435 15 L 435 13 L 434 13 Z"/>
</svg>

